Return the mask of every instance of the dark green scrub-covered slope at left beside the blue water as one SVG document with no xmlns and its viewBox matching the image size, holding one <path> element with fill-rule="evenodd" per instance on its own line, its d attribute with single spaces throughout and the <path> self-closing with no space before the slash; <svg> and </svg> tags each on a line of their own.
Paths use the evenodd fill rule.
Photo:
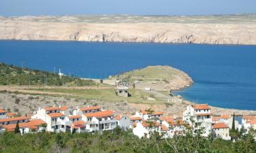
<svg viewBox="0 0 256 153">
<path fill-rule="evenodd" d="M 89 86 L 95 84 L 91 80 L 81 80 L 74 76 L 59 77 L 57 73 L 0 63 L 0 85 Z"/>
</svg>

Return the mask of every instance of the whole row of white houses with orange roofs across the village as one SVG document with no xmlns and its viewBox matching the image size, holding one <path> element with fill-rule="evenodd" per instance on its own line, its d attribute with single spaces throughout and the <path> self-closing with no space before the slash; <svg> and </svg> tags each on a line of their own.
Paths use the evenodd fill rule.
<svg viewBox="0 0 256 153">
<path fill-rule="evenodd" d="M 119 126 L 122 129 L 132 129 L 138 137 L 150 137 L 150 131 L 156 131 L 163 137 L 182 135 L 188 129 L 207 137 L 213 135 L 230 140 L 229 130 L 233 126 L 233 116 L 221 114 L 212 116 L 207 104 L 188 105 L 183 116 L 164 116 L 164 112 L 141 110 L 132 116 L 117 114 L 113 110 L 104 110 L 98 106 L 87 107 L 39 107 L 33 114 L 16 117 L 0 109 L 0 131 L 14 131 L 17 126 L 21 134 L 40 131 L 49 132 L 90 132 L 101 133 L 113 131 Z M 243 116 L 242 124 L 234 122 L 235 129 L 243 126 L 246 133 L 250 128 L 256 129 L 256 116 Z"/>
</svg>

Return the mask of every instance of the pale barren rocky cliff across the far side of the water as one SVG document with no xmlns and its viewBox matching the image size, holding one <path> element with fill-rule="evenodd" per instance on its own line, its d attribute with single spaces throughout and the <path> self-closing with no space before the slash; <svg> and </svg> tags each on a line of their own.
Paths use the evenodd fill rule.
<svg viewBox="0 0 256 153">
<path fill-rule="evenodd" d="M 0 39 L 256 44 L 255 20 L 241 22 L 79 22 L 57 17 L 0 18 Z M 153 18 L 153 17 L 152 17 Z M 171 18 L 171 17 L 170 17 Z M 64 21 L 63 21 L 64 20 Z M 167 19 L 165 19 L 167 20 Z M 188 19 L 186 19 L 188 20 Z"/>
</svg>

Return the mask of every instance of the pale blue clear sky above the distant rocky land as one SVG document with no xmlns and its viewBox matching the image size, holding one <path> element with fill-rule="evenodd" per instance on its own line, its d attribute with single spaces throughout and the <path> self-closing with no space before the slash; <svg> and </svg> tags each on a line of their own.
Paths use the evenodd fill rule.
<svg viewBox="0 0 256 153">
<path fill-rule="evenodd" d="M 1 16 L 253 13 L 256 13 L 256 0 L 0 0 Z"/>
</svg>

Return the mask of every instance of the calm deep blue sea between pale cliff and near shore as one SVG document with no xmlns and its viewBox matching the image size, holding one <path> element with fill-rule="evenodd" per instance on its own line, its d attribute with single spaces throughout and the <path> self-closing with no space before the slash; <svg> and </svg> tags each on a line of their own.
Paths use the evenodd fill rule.
<svg viewBox="0 0 256 153">
<path fill-rule="evenodd" d="M 195 84 L 176 94 L 197 103 L 256 110 L 256 46 L 0 41 L 0 62 L 105 78 L 147 65 L 170 65 Z"/>
</svg>

